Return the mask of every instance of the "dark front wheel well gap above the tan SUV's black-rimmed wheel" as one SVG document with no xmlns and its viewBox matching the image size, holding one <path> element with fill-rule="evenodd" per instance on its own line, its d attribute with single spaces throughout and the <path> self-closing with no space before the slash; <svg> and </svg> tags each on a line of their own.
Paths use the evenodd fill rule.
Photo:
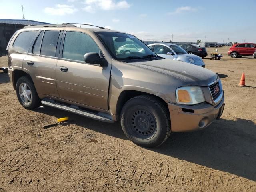
<svg viewBox="0 0 256 192">
<path fill-rule="evenodd" d="M 116 104 L 116 116 L 119 116 L 121 113 L 121 110 L 124 106 L 124 104 L 130 100 L 133 97 L 139 96 L 139 95 L 151 95 L 154 96 L 155 98 L 157 98 L 158 100 L 160 100 L 161 102 L 163 102 L 163 104 L 168 108 L 167 103 L 160 97 L 153 95 L 153 94 L 149 94 L 149 93 L 145 93 L 145 92 L 140 92 L 140 91 L 134 91 L 134 90 L 125 90 L 123 91 L 117 101 Z"/>
</svg>

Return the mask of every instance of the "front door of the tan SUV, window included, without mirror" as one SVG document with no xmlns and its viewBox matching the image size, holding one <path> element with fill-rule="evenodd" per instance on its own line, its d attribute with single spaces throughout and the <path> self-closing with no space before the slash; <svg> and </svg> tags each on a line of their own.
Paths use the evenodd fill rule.
<svg viewBox="0 0 256 192">
<path fill-rule="evenodd" d="M 56 67 L 58 93 L 64 100 L 108 110 L 111 64 L 103 68 L 85 63 L 84 54 L 89 52 L 100 52 L 89 35 L 65 32 L 61 58 Z"/>
</svg>

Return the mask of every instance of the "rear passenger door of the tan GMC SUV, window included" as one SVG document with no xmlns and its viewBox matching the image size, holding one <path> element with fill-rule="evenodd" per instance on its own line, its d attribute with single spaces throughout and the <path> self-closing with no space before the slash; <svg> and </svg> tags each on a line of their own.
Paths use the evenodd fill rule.
<svg viewBox="0 0 256 192">
<path fill-rule="evenodd" d="M 35 84 L 38 94 L 59 97 L 56 87 L 56 48 L 61 30 L 41 30 L 24 58 L 23 68 Z"/>
</svg>

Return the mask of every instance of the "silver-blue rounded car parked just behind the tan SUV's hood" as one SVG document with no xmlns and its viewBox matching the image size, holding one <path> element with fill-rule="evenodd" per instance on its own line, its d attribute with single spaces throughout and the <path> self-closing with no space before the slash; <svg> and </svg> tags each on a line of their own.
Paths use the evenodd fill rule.
<svg viewBox="0 0 256 192">
<path fill-rule="evenodd" d="M 205 67 L 202 58 L 194 54 L 188 54 L 184 49 L 176 44 L 153 43 L 149 44 L 148 47 L 158 56 Z"/>
</svg>

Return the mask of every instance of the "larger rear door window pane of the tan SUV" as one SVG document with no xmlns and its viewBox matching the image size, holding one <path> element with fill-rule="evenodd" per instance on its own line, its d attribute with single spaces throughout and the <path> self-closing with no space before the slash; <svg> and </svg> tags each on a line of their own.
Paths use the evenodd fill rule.
<svg viewBox="0 0 256 192">
<path fill-rule="evenodd" d="M 41 55 L 55 57 L 60 31 L 45 31 L 41 46 Z"/>
</svg>

